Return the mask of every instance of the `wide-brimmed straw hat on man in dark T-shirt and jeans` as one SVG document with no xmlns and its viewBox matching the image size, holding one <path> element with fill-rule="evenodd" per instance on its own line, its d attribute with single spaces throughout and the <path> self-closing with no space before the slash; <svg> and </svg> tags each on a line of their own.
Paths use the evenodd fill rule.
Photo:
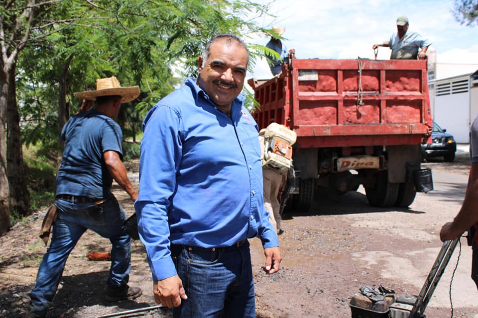
<svg viewBox="0 0 478 318">
<path fill-rule="evenodd" d="M 73 93 L 78 98 L 96 100 L 100 96 L 121 96 L 121 103 L 127 103 L 139 96 L 139 86 L 121 87 L 115 76 L 96 80 L 96 90 Z"/>
</svg>

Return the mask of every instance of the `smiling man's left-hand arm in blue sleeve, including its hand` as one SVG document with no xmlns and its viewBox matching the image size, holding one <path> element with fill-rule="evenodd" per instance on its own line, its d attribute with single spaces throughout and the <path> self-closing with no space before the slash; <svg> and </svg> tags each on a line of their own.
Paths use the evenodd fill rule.
<svg viewBox="0 0 478 318">
<path fill-rule="evenodd" d="M 134 204 L 138 232 L 151 269 L 154 301 L 168 308 L 179 307 L 181 299 L 188 297 L 171 258 L 168 209 L 182 154 L 181 123 L 178 115 L 163 105 L 154 106 L 144 123 L 139 164 L 143 190 Z"/>
</svg>

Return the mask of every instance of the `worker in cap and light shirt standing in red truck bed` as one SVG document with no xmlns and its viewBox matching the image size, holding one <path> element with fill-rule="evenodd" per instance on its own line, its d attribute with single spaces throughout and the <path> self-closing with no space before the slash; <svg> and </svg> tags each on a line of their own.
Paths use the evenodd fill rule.
<svg viewBox="0 0 478 318">
<path fill-rule="evenodd" d="M 392 34 L 389 41 L 382 44 L 373 44 L 372 49 L 379 46 L 389 47 L 392 50 L 390 60 L 419 60 L 426 59 L 426 53 L 430 42 L 417 32 L 408 30 L 408 18 L 399 16 L 397 18 L 397 33 Z M 419 51 L 420 49 L 420 51 Z"/>
</svg>

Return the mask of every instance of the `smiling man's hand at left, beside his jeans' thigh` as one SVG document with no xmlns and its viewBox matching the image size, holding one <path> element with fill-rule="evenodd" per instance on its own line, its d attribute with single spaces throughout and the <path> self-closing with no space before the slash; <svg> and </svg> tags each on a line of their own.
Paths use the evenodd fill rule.
<svg viewBox="0 0 478 318">
<path fill-rule="evenodd" d="M 188 299 L 183 288 L 183 282 L 174 275 L 153 283 L 154 301 L 168 308 L 179 307 L 181 298 Z"/>
</svg>

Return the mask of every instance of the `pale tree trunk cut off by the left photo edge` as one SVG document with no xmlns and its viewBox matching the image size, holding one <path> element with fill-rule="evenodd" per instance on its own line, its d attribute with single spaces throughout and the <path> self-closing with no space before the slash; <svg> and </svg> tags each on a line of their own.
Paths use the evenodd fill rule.
<svg viewBox="0 0 478 318">
<path fill-rule="evenodd" d="M 8 178 L 6 173 L 6 106 L 8 98 L 9 74 L 3 71 L 4 65 L 1 63 L 0 69 L 0 236 L 4 235 L 10 229 L 10 211 L 8 188 Z"/>
</svg>

